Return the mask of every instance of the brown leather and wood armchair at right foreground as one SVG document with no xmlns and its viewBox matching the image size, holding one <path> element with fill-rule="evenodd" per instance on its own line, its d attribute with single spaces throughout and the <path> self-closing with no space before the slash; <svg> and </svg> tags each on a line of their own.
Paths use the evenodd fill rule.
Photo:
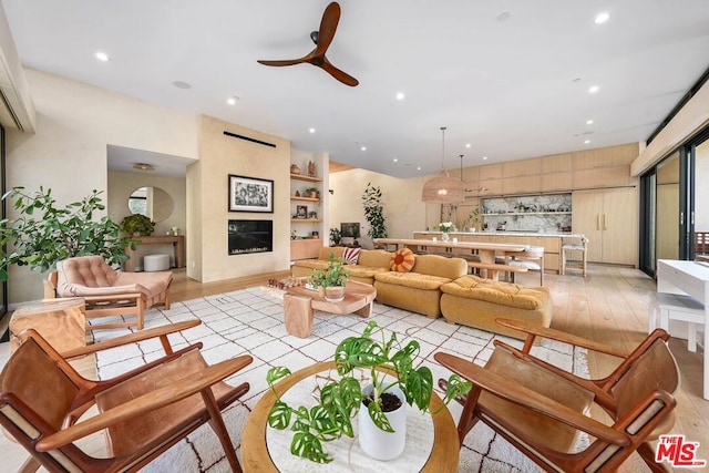
<svg viewBox="0 0 709 473">
<path fill-rule="evenodd" d="M 672 393 L 679 387 L 679 369 L 666 331 L 654 331 L 628 352 L 554 329 L 512 320 L 502 325 L 530 329 L 523 349 L 497 342 L 484 367 L 449 353 L 434 354 L 438 362 L 473 382 L 473 390 L 460 400 L 461 444 L 482 421 L 545 471 L 612 472 L 636 451 L 653 472 L 667 471 L 655 462 L 649 444 L 671 429 L 677 404 Z M 603 379 L 579 378 L 530 353 L 540 337 L 612 354 L 619 363 Z M 608 413 L 609 422 L 588 417 L 594 404 Z M 584 432 L 590 441 L 579 448 Z"/>
</svg>

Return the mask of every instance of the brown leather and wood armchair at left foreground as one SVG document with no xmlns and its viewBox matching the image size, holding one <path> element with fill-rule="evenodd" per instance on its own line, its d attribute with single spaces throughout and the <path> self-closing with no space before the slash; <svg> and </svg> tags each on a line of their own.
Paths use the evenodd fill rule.
<svg viewBox="0 0 709 473">
<path fill-rule="evenodd" d="M 197 321 L 198 322 L 198 321 Z M 0 425 L 30 457 L 22 471 L 137 471 L 208 422 L 233 471 L 240 472 L 222 411 L 249 384 L 223 380 L 251 362 L 248 354 L 207 366 L 202 343 L 174 351 L 167 338 L 184 322 L 148 329 L 60 354 L 32 329 L 0 373 Z M 105 381 L 80 376 L 69 358 L 122 342 L 160 338 L 165 356 Z M 95 415 L 86 411 L 95 407 Z M 85 415 L 84 415 L 85 414 Z M 91 456 L 76 442 L 106 432 L 106 456 Z"/>
</svg>

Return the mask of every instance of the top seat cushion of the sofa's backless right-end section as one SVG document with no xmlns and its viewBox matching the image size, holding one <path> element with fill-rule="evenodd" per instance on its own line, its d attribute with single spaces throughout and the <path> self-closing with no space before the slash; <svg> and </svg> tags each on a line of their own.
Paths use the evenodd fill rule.
<svg viewBox="0 0 709 473">
<path fill-rule="evenodd" d="M 549 297 L 549 289 L 546 287 L 525 287 L 472 275 L 460 277 L 441 286 L 441 291 L 451 296 L 484 300 L 527 310 L 542 308 Z"/>
</svg>

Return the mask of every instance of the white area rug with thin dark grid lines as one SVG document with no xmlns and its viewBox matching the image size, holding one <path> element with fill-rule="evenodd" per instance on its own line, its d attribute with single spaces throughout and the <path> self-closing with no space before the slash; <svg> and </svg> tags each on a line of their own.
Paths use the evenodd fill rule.
<svg viewBox="0 0 709 473">
<path fill-rule="evenodd" d="M 201 341 L 208 363 L 248 353 L 254 362 L 232 380 L 250 383 L 240 402 L 224 412 L 232 441 L 240 457 L 242 431 L 254 405 L 267 389 L 266 372 L 274 366 L 296 371 L 315 362 L 330 360 L 336 346 L 346 337 L 360 335 L 368 319 L 356 315 L 332 316 L 316 312 L 312 335 L 307 339 L 290 336 L 282 320 L 282 301 L 263 288 L 250 288 L 216 296 L 174 302 L 169 310 L 151 309 L 145 313 L 146 327 L 198 318 L 202 325 L 172 337 L 174 346 Z M 520 340 L 497 336 L 470 327 L 450 325 L 443 318 L 432 320 L 419 313 L 374 304 L 371 316 L 378 325 L 421 343 L 420 359 L 433 371 L 434 379 L 448 378 L 450 372 L 433 360 L 433 353 L 445 351 L 484 364 L 493 350 L 493 341 L 501 339 L 521 347 Z M 96 331 L 96 341 L 113 338 L 117 330 Z M 579 376 L 587 376 L 586 353 L 563 343 L 545 341 L 533 353 Z M 157 342 L 144 342 L 107 350 L 97 356 L 99 376 L 112 378 L 126 370 L 158 358 Z M 439 392 L 439 394 L 441 394 Z M 450 410 L 458 421 L 461 407 L 453 402 Z M 302 471 L 317 472 L 307 462 Z M 203 425 L 186 440 L 152 462 L 145 472 L 226 472 L 229 471 L 222 448 L 208 425 Z M 460 472 L 537 472 L 526 456 L 479 423 L 466 436 L 461 449 Z"/>
</svg>

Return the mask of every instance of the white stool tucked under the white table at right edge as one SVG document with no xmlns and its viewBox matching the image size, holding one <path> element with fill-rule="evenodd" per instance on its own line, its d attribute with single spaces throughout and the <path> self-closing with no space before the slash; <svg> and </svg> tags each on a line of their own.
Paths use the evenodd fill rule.
<svg viewBox="0 0 709 473">
<path fill-rule="evenodd" d="M 650 294 L 648 333 L 658 327 L 669 331 L 670 320 L 687 322 L 687 349 L 691 352 L 697 351 L 697 326 L 705 325 L 705 306 L 692 297 L 669 292 Z"/>
</svg>

